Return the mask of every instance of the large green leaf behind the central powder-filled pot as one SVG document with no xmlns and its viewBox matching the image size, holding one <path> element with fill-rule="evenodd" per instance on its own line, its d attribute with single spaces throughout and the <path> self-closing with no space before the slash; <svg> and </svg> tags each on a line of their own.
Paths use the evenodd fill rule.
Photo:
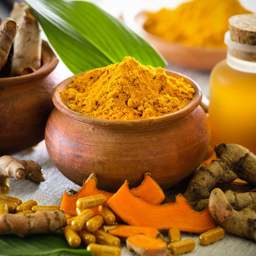
<svg viewBox="0 0 256 256">
<path fill-rule="evenodd" d="M 73 72 L 107 66 L 132 56 L 141 64 L 166 61 L 120 20 L 86 1 L 25 0 L 51 46 Z"/>
</svg>

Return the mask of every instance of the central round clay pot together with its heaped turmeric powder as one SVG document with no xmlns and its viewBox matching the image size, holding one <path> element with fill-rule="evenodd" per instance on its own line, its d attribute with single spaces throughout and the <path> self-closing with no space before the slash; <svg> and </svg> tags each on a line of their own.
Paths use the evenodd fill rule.
<svg viewBox="0 0 256 256">
<path fill-rule="evenodd" d="M 76 74 L 54 90 L 45 132 L 49 157 L 82 185 L 138 186 L 149 171 L 163 189 L 190 175 L 207 154 L 210 128 L 190 78 L 131 57 Z"/>
</svg>

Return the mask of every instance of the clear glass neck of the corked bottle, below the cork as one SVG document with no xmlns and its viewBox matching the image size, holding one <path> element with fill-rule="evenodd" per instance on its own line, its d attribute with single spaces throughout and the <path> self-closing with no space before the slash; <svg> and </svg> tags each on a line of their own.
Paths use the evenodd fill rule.
<svg viewBox="0 0 256 256">
<path fill-rule="evenodd" d="M 246 45 L 231 40 L 230 32 L 226 32 L 227 64 L 235 70 L 245 73 L 256 73 L 256 45 Z"/>
</svg>

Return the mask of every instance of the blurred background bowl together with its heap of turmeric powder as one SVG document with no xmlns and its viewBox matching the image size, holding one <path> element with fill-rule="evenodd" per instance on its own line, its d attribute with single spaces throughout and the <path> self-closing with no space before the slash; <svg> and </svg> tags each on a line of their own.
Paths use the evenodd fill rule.
<svg viewBox="0 0 256 256">
<path fill-rule="evenodd" d="M 170 63 L 211 70 L 226 58 L 228 19 L 250 13 L 238 0 L 191 0 L 175 9 L 124 13 L 124 21 Z"/>
</svg>

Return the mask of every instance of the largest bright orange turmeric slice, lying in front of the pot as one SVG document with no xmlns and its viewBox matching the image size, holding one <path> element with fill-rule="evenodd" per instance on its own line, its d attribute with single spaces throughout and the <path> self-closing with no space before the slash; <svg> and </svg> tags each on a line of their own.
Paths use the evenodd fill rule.
<svg viewBox="0 0 256 256">
<path fill-rule="evenodd" d="M 150 226 L 158 230 L 178 228 L 180 231 L 200 233 L 215 227 L 208 208 L 194 211 L 183 195 L 176 202 L 153 205 L 133 195 L 128 182 L 110 197 L 107 204 L 126 223 L 135 226 Z"/>
</svg>

